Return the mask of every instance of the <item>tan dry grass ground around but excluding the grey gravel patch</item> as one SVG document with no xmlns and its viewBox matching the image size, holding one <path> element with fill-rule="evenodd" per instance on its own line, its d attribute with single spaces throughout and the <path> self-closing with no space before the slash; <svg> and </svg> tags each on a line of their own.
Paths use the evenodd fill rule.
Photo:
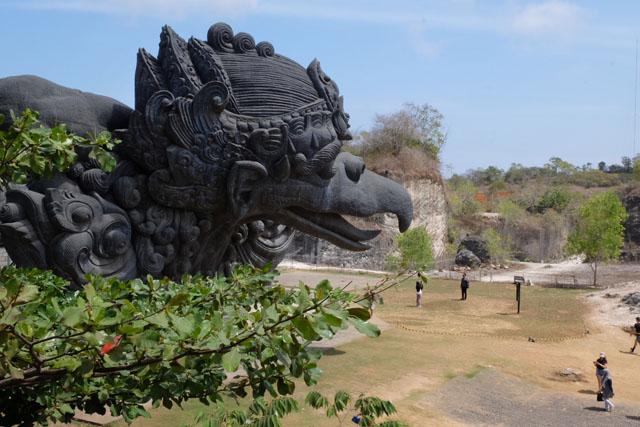
<svg viewBox="0 0 640 427">
<path fill-rule="evenodd" d="M 324 376 L 318 390 L 330 394 L 342 389 L 390 399 L 399 410 L 396 418 L 410 425 L 457 425 L 425 400 L 453 378 L 473 378 L 492 368 L 546 390 L 586 393 L 595 387 L 591 361 L 598 352 L 607 351 L 615 369 L 617 395 L 637 405 L 640 390 L 633 381 L 637 367 L 629 361 L 638 360 L 620 353 L 630 340 L 619 330 L 591 324 L 583 294 L 523 287 L 517 315 L 513 285 L 473 283 L 463 302 L 458 300 L 457 282 L 433 280 L 418 309 L 413 282 L 404 283 L 388 291 L 385 304 L 376 310 L 391 328 L 377 339 L 361 338 L 327 351 L 321 360 Z M 560 381 L 554 372 L 566 367 L 580 369 L 589 382 Z M 299 387 L 298 397 L 307 391 Z M 152 419 L 133 425 L 192 424 L 203 409 L 196 402 L 184 410 L 158 409 L 152 411 Z M 304 409 L 288 417 L 285 425 L 335 426 L 338 422 Z"/>
</svg>

